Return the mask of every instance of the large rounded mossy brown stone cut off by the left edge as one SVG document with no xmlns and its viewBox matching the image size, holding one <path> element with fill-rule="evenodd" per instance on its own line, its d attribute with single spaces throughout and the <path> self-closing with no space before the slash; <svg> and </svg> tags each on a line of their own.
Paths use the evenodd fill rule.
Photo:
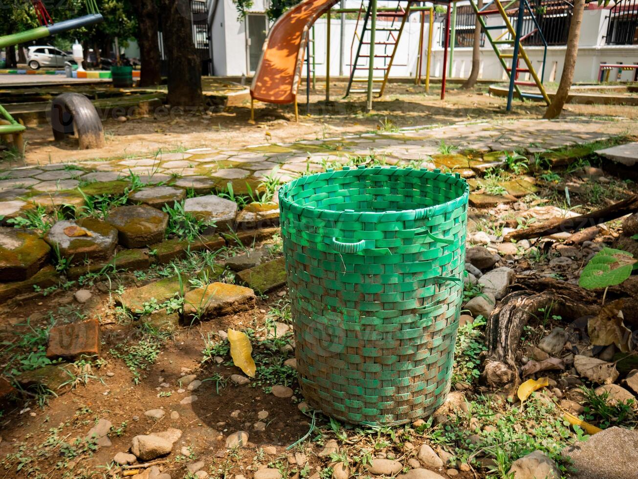
<svg viewBox="0 0 638 479">
<path fill-rule="evenodd" d="M 0 281 L 25 281 L 47 262 L 51 248 L 29 230 L 0 226 Z"/>
</svg>

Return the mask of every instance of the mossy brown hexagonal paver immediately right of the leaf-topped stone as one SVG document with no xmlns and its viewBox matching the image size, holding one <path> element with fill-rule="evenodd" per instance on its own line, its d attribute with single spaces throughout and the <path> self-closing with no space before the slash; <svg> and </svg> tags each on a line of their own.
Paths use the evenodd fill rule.
<svg viewBox="0 0 638 479">
<path fill-rule="evenodd" d="M 137 248 L 164 239 L 168 215 L 148 205 L 121 206 L 109 212 L 107 223 L 117 230 L 119 244 Z"/>
</svg>

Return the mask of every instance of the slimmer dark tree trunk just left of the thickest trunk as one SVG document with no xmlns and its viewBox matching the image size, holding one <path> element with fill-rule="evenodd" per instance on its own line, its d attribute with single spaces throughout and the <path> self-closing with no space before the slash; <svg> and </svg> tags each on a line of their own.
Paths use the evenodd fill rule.
<svg viewBox="0 0 638 479">
<path fill-rule="evenodd" d="M 137 41 L 140 44 L 140 87 L 159 85 L 161 83 L 161 59 L 159 58 L 159 18 L 155 0 L 137 0 L 131 2 L 139 33 Z"/>
</svg>

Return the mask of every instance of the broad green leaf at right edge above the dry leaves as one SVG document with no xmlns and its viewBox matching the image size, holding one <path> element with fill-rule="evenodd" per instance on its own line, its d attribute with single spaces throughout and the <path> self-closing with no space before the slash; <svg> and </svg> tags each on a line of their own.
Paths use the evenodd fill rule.
<svg viewBox="0 0 638 479">
<path fill-rule="evenodd" d="M 627 251 L 603 248 L 582 269 L 578 284 L 588 290 L 615 286 L 631 276 L 636 262 Z"/>
</svg>

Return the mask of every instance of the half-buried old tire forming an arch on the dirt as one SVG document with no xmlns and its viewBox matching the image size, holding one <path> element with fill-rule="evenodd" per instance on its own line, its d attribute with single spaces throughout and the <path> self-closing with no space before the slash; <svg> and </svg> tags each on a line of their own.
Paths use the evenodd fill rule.
<svg viewBox="0 0 638 479">
<path fill-rule="evenodd" d="M 79 93 L 63 93 L 51 102 L 50 122 L 56 140 L 76 135 L 81 150 L 104 146 L 104 130 L 93 103 Z"/>
</svg>

